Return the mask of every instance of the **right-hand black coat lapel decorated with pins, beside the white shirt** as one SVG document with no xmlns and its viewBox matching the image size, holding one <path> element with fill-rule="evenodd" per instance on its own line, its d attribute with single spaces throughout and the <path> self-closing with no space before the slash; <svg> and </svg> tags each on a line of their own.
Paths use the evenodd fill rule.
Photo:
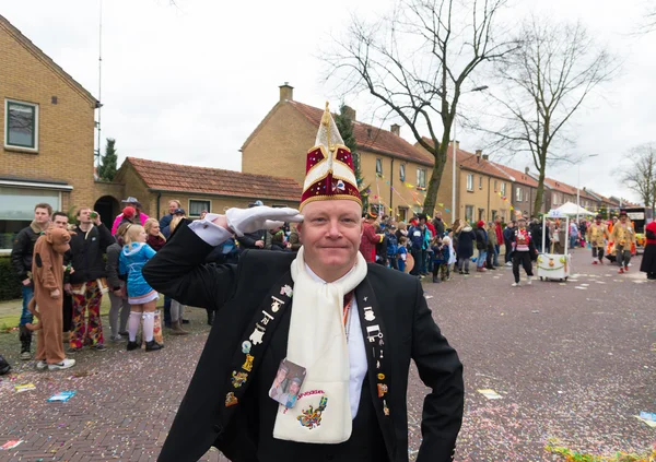
<svg viewBox="0 0 656 462">
<path fill-rule="evenodd" d="M 364 350 L 366 352 L 367 374 L 371 388 L 372 400 L 378 424 L 383 431 L 387 453 L 394 458 L 396 452 L 396 438 L 394 434 L 394 424 L 389 411 L 389 401 L 387 398 L 391 383 L 391 362 L 390 351 L 387 344 L 387 329 L 383 320 L 383 310 L 376 300 L 374 291 L 365 279 L 355 288 L 355 299 L 358 300 L 358 315 L 360 316 L 360 325 L 364 336 Z"/>
</svg>

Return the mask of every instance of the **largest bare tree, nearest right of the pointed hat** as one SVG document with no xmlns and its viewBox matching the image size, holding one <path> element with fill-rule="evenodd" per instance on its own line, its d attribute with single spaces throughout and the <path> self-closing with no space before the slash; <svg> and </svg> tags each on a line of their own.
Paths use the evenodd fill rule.
<svg viewBox="0 0 656 462">
<path fill-rule="evenodd" d="M 503 35 L 495 17 L 505 3 L 400 0 L 377 23 L 354 17 L 347 38 L 336 40 L 335 50 L 323 55 L 329 66 L 326 79 L 337 79 L 342 94 L 368 92 L 435 157 L 425 213 L 435 208 L 460 96 L 473 86 L 477 68 L 517 47 L 495 39 Z M 423 130 L 429 140 L 422 138 Z"/>
</svg>

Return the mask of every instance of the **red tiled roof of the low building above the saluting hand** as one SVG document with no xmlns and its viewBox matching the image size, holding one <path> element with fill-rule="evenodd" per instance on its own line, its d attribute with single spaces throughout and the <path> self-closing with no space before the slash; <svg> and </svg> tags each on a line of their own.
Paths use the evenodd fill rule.
<svg viewBox="0 0 656 462">
<path fill-rule="evenodd" d="M 128 157 L 126 163 L 134 167 L 151 189 L 294 202 L 301 200 L 302 187 L 291 178 L 167 164 L 137 157 Z"/>
</svg>

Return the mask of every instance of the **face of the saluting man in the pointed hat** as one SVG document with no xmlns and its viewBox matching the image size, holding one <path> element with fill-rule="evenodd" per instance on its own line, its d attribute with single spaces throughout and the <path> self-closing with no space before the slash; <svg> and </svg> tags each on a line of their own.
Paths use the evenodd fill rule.
<svg viewBox="0 0 656 462">
<path fill-rule="evenodd" d="M 353 268 L 360 249 L 362 208 L 354 201 L 311 202 L 298 225 L 305 262 L 320 277 L 339 279 Z"/>
</svg>

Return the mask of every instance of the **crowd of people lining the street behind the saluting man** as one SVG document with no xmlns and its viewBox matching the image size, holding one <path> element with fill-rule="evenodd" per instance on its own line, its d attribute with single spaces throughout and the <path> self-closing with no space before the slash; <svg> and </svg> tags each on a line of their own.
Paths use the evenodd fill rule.
<svg viewBox="0 0 656 462">
<path fill-rule="evenodd" d="M 72 355 L 85 346 L 105 350 L 106 331 L 99 312 L 104 294 L 110 300 L 109 340 L 127 340 L 128 351 L 139 347 L 137 334 L 140 329 L 142 343 L 149 352 L 163 347 L 162 327 L 174 335 L 188 333 L 183 327 L 188 322 L 184 319 L 185 307 L 177 300 L 164 297 L 163 317 L 160 318 L 159 294 L 143 280 L 141 268 L 166 245 L 181 222 L 190 221 L 177 200 L 169 201 L 168 213 L 159 221 L 149 217 L 136 198 L 129 197 L 122 202 L 125 208 L 115 217 L 112 229 L 91 208 L 79 209 L 77 223 L 72 224 L 66 213 L 52 212 L 49 204 L 40 203 L 34 209 L 31 225 L 16 235 L 11 260 L 22 284 L 23 309 L 19 327 L 22 359 L 32 359 L 28 325 L 34 316 L 28 305 L 34 297 L 34 247 L 50 227 L 70 232 L 70 250 L 63 256 L 61 291 L 52 297 L 62 306 L 62 332 L 68 336 L 66 354 Z M 262 205 L 260 201 L 253 204 L 259 205 Z M 201 213 L 201 218 L 206 213 Z M 635 232 L 625 212 L 609 221 L 604 221 L 600 215 L 593 222 L 582 220 L 577 224 L 573 221 L 570 229 L 565 229 L 559 218 L 549 220 L 547 226 L 535 218 L 527 226 L 524 217 L 503 225 L 499 216 L 493 222 L 479 221 L 473 226 L 456 220 L 449 226 L 440 212 L 432 220 L 425 214 L 415 214 L 409 223 L 366 212 L 362 221 L 360 252 L 365 261 L 409 272 L 419 279 L 432 275 L 433 283 L 449 281 L 454 273 L 467 275 L 473 263 L 477 272 L 494 271 L 501 264 L 512 266 L 513 286 L 519 285 L 523 268 L 526 282 L 530 284 L 532 261 L 538 253 L 564 253 L 565 239 L 570 239 L 570 248 L 587 245 L 591 249 L 593 264 L 602 264 L 606 257 L 620 266 L 620 273 L 629 271 L 631 257 L 635 254 Z M 647 228 L 646 238 L 646 244 L 656 244 L 654 229 Z M 502 245 L 505 254 L 500 261 Z M 296 224 L 285 223 L 273 229 L 233 235 L 216 246 L 206 261 L 236 263 L 247 249 L 296 252 L 300 247 Z M 649 280 L 655 280 L 656 257 L 651 257 L 652 249 L 653 246 L 643 259 L 641 270 Z M 214 311 L 207 308 L 207 315 L 211 325 Z M 36 358 L 39 368 L 56 370 L 74 365 L 74 360 L 61 354 L 52 359 L 43 355 Z"/>
</svg>

